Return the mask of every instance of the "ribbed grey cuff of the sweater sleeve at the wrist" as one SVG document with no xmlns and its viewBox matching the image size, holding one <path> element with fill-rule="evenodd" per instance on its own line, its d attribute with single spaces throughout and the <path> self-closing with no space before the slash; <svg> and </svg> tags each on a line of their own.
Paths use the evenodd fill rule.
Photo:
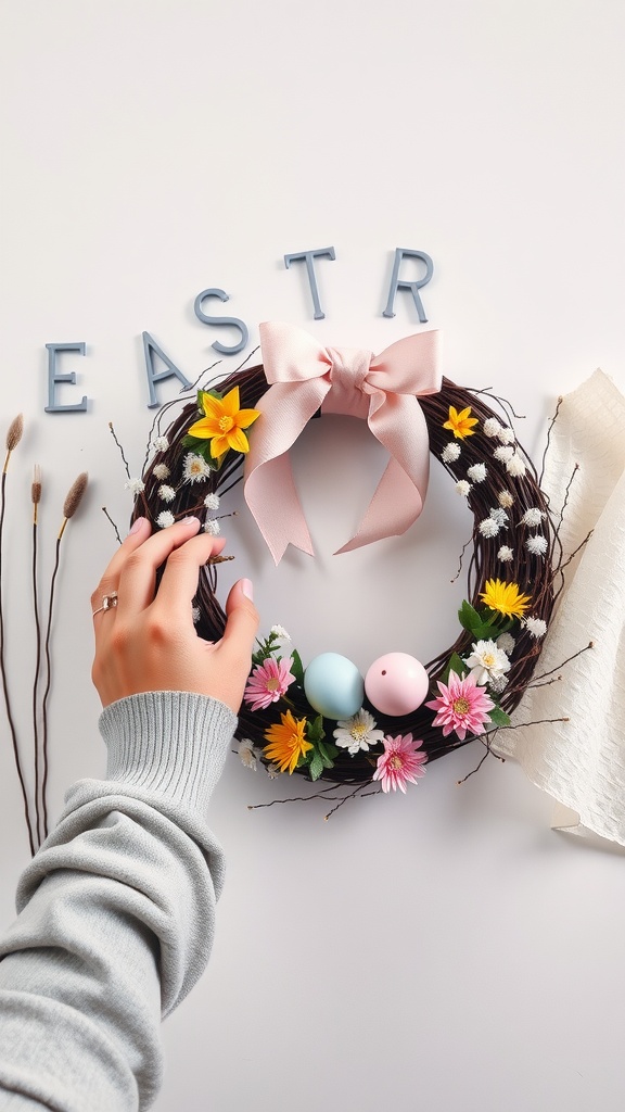
<svg viewBox="0 0 625 1112">
<path fill-rule="evenodd" d="M 119 699 L 100 715 L 107 778 L 205 812 L 236 724 L 225 703 L 191 692 Z"/>
</svg>

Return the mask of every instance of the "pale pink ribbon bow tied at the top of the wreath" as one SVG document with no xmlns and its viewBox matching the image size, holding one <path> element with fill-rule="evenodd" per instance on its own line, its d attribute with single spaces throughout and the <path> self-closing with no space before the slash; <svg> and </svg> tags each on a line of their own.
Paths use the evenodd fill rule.
<svg viewBox="0 0 625 1112">
<path fill-rule="evenodd" d="M 260 344 L 270 388 L 256 406 L 261 416 L 250 435 L 245 496 L 276 564 L 288 544 L 314 555 L 288 449 L 319 407 L 366 418 L 390 454 L 356 534 L 338 552 L 405 533 L 427 490 L 429 443 L 417 395 L 440 389 L 438 332 L 407 336 L 374 356 L 324 348 L 292 325 L 267 322 Z"/>
</svg>

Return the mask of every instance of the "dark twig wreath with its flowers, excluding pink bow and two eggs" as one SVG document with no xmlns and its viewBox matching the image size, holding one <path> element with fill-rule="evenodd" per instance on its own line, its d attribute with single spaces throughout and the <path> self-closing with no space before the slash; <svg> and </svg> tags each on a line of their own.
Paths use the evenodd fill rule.
<svg viewBox="0 0 625 1112">
<path fill-rule="evenodd" d="M 155 527 L 163 527 L 194 514 L 207 532 L 218 533 L 218 519 L 227 514 L 226 496 L 244 478 L 248 436 L 252 441 L 262 435 L 266 415 L 257 416 L 256 407 L 260 403 L 262 410 L 260 399 L 267 390 L 262 366 L 239 369 L 218 388 L 201 388 L 163 433 L 165 415 L 173 403 L 165 406 L 155 420 L 143 475 L 129 477 L 127 484 L 135 493 L 132 518 L 147 516 Z M 442 379 L 437 393 L 419 396 L 418 403 L 429 451 L 455 484 L 453 497 L 466 497 L 474 515 L 473 537 L 465 546 L 472 550 L 458 636 L 425 666 L 429 689 L 417 709 L 400 716 L 383 714 L 365 696 L 361 708 L 373 725 L 360 716 L 360 727 L 350 733 L 356 719 L 344 722 L 337 738 L 335 732 L 341 727 L 310 705 L 305 666 L 281 638 L 282 632 L 274 629 L 259 641 L 237 729 L 246 763 L 256 766 L 260 761 L 271 775 L 295 772 L 356 788 L 377 780 L 385 791 L 404 791 L 407 780 L 423 775 L 426 759 L 435 761 L 476 736 L 489 748 L 494 732 L 509 726 L 508 716 L 535 675 L 562 552 L 536 469 L 516 439 L 516 415 L 488 391 L 466 389 L 448 378 Z M 216 564 L 201 577 L 194 616 L 200 637 L 217 641 L 222 635 L 226 616 L 217 599 Z M 465 681 L 468 699 L 466 688 L 458 687 Z M 262 683 L 265 699 L 262 691 L 258 694 Z M 256 709 L 250 691 L 256 691 Z M 490 709 L 472 717 L 478 696 Z M 279 739 L 277 746 L 272 737 Z M 360 738 L 367 748 L 359 747 Z M 404 777 L 401 744 L 399 751 L 396 745 L 399 757 L 394 759 L 390 743 L 406 738 L 413 744 L 404 745 L 411 754 Z"/>
</svg>

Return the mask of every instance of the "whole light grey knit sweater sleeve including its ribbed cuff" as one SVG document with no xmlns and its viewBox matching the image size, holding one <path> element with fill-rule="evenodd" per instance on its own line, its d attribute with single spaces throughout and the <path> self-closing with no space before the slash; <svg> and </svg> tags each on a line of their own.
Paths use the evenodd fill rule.
<svg viewBox="0 0 625 1112">
<path fill-rule="evenodd" d="M 236 718 L 201 695 L 107 707 L 106 781 L 80 781 L 0 940 L 0 1110 L 129 1112 L 159 1027 L 208 961 L 221 847 L 206 825 Z"/>
</svg>

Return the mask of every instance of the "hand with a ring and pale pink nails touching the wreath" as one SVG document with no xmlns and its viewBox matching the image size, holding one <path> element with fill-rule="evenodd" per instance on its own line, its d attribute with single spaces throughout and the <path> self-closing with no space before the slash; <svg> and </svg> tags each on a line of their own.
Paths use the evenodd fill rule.
<svg viewBox="0 0 625 1112">
<path fill-rule="evenodd" d="M 191 517 L 150 535 L 135 522 L 91 595 L 91 609 L 117 592 L 117 605 L 93 615 L 96 655 L 91 676 L 102 706 L 151 691 L 212 695 L 239 709 L 258 628 L 251 584 L 239 579 L 226 602 L 221 641 L 197 636 L 191 600 L 200 567 L 225 540 L 198 533 Z M 167 560 L 156 590 L 157 569 Z M 247 594 L 246 594 L 247 592 Z"/>
</svg>

